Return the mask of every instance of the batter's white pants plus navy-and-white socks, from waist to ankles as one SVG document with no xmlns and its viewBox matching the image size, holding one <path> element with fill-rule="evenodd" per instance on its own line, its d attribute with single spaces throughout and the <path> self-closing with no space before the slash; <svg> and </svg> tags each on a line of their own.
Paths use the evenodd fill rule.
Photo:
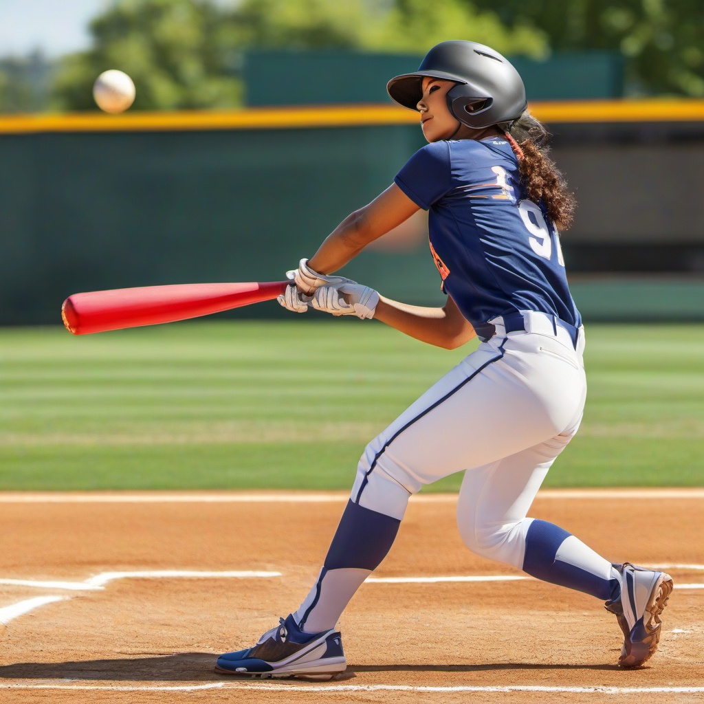
<svg viewBox="0 0 704 704">
<path fill-rule="evenodd" d="M 470 550 L 534 577 L 616 598 L 611 563 L 554 524 L 527 518 L 555 458 L 582 420 L 584 331 L 577 347 L 543 313 L 496 334 L 379 434 L 360 460 L 351 498 L 315 586 L 296 611 L 308 632 L 331 629 L 391 547 L 408 499 L 465 471 L 457 506 Z"/>
</svg>

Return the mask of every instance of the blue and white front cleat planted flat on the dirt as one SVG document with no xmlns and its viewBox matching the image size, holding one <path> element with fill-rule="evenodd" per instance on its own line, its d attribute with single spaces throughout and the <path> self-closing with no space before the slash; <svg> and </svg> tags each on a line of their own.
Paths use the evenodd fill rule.
<svg viewBox="0 0 704 704">
<path fill-rule="evenodd" d="M 241 677 L 332 679 L 347 667 L 339 631 L 303 633 L 293 615 L 279 620 L 253 648 L 220 655 L 215 672 Z"/>
</svg>

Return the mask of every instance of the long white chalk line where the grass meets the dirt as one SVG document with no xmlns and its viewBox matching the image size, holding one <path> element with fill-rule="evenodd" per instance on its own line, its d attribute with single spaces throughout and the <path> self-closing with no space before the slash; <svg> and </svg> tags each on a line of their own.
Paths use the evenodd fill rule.
<svg viewBox="0 0 704 704">
<path fill-rule="evenodd" d="M 349 498 L 348 491 L 325 491 L 301 493 L 173 493 L 173 492 L 0 492 L 0 503 L 341 503 Z M 645 498 L 679 499 L 704 498 L 704 488 L 672 489 L 543 489 L 538 499 L 586 499 L 586 498 Z M 420 494 L 411 496 L 417 503 L 453 503 L 457 494 Z"/>
</svg>

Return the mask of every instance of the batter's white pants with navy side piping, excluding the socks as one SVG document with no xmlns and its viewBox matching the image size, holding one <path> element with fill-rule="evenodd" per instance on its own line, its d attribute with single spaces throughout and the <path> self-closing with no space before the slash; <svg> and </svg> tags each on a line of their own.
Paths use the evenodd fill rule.
<svg viewBox="0 0 704 704">
<path fill-rule="evenodd" d="M 521 525 L 548 469 L 577 432 L 586 398 L 584 330 L 577 349 L 543 313 L 530 332 L 482 343 L 379 434 L 351 499 L 403 518 L 410 494 L 465 470 L 458 527 L 472 551 L 522 567 Z"/>
</svg>

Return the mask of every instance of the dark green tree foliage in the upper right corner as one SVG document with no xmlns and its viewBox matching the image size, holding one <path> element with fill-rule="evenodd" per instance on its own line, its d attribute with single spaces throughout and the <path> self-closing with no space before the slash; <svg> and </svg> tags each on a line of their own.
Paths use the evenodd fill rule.
<svg viewBox="0 0 704 704">
<path fill-rule="evenodd" d="M 627 82 L 636 92 L 704 96 L 702 0 L 462 0 L 491 8 L 505 25 L 529 19 L 554 51 L 602 49 L 627 58 Z"/>
</svg>

